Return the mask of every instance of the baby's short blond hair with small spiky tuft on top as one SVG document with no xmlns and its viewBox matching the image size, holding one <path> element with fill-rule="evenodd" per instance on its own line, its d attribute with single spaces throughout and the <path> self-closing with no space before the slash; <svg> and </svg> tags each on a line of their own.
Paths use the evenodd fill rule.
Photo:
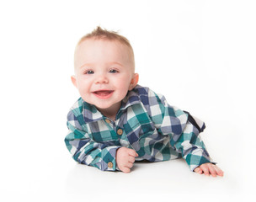
<svg viewBox="0 0 256 202">
<path fill-rule="evenodd" d="M 133 68 L 135 66 L 134 61 L 134 52 L 131 47 L 130 41 L 125 38 L 125 36 L 119 35 L 115 31 L 109 31 L 107 29 L 102 29 L 101 27 L 97 27 L 93 30 L 93 32 L 84 35 L 77 43 L 77 46 L 80 45 L 84 40 L 110 40 L 110 41 L 118 41 L 122 45 L 126 45 L 131 53 L 131 61 L 133 63 Z"/>
</svg>

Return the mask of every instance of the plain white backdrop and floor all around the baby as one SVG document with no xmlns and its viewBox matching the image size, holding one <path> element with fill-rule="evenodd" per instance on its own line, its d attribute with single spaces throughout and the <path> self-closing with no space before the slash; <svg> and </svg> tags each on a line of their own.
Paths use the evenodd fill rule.
<svg viewBox="0 0 256 202">
<path fill-rule="evenodd" d="M 1 1 L 1 201 L 248 199 L 253 195 L 254 1 Z M 96 26 L 134 48 L 140 84 L 204 120 L 224 178 L 183 160 L 136 163 L 132 173 L 78 165 L 64 144 L 77 100 L 77 41 Z M 249 201 L 249 199 L 247 200 Z"/>
</svg>

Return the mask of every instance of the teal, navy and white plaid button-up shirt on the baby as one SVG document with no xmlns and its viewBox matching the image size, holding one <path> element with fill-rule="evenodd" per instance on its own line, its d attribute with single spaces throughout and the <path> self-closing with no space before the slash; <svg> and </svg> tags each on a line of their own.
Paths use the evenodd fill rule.
<svg viewBox="0 0 256 202">
<path fill-rule="evenodd" d="M 118 169 L 115 153 L 121 146 L 135 150 L 136 161 L 183 157 L 192 171 L 211 162 L 199 136 L 204 122 L 139 85 L 122 100 L 115 121 L 79 98 L 67 115 L 67 127 L 65 143 L 74 160 L 101 170 Z"/>
</svg>

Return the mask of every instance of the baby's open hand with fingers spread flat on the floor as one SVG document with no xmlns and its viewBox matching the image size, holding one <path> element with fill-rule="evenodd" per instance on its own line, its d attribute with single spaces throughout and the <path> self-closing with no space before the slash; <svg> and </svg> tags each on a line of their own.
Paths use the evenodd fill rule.
<svg viewBox="0 0 256 202">
<path fill-rule="evenodd" d="M 207 176 L 210 176 L 211 174 L 212 177 L 216 177 L 217 175 L 223 177 L 223 171 L 221 171 L 221 168 L 217 167 L 211 162 L 206 162 L 200 165 L 199 167 L 196 167 L 194 171 L 195 173 L 199 173 L 199 174 L 205 173 L 205 175 Z"/>
</svg>

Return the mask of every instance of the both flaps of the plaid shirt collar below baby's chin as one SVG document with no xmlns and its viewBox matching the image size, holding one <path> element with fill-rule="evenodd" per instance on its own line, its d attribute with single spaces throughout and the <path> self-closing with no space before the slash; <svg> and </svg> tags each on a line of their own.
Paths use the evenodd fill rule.
<svg viewBox="0 0 256 202">
<path fill-rule="evenodd" d="M 118 114 L 120 114 L 120 112 L 124 111 L 125 109 L 131 107 L 131 105 L 141 103 L 140 97 L 137 93 L 138 87 L 139 86 L 133 88 L 131 91 L 128 91 L 127 95 L 122 100 L 122 104 Z M 101 114 L 100 111 L 93 104 L 88 104 L 85 101 L 83 101 L 83 117 L 86 123 L 104 119 L 104 115 Z"/>
</svg>

